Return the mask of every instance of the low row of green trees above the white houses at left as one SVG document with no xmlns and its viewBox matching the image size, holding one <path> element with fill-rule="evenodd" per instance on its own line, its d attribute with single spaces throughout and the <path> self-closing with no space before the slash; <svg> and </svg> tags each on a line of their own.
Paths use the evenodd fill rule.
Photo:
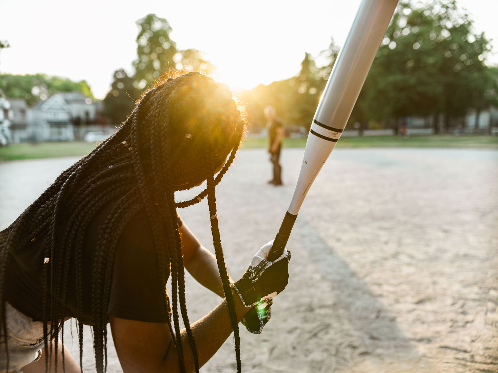
<svg viewBox="0 0 498 373">
<path fill-rule="evenodd" d="M 79 91 L 93 98 L 86 81 L 73 82 L 67 78 L 50 77 L 46 74 L 0 74 L 0 90 L 6 97 L 23 98 L 28 105 L 47 99 L 55 92 Z"/>
</svg>

